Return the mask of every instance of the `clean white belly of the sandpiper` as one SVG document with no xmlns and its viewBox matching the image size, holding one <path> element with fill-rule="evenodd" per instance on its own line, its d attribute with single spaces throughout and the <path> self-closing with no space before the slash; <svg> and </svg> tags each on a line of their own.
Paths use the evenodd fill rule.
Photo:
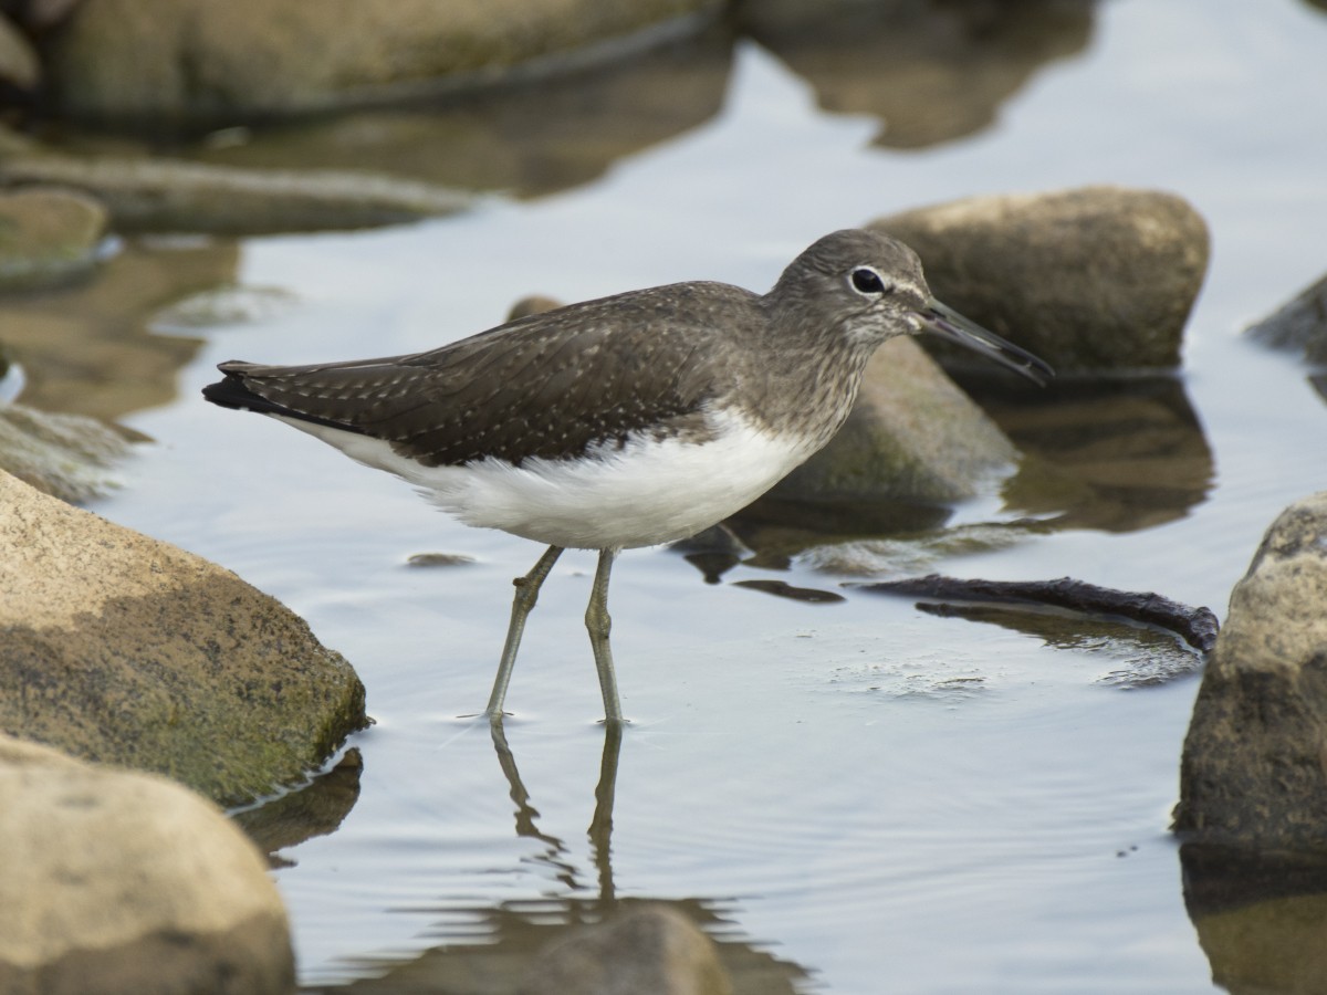
<svg viewBox="0 0 1327 995">
<path fill-rule="evenodd" d="M 736 414 L 710 418 L 715 438 L 703 444 L 641 436 L 622 448 L 600 447 L 585 459 L 527 459 L 519 467 L 499 459 L 421 467 L 378 439 L 281 421 L 415 484 L 467 525 L 549 545 L 625 549 L 709 528 L 811 455 L 805 443 L 771 435 Z"/>
</svg>

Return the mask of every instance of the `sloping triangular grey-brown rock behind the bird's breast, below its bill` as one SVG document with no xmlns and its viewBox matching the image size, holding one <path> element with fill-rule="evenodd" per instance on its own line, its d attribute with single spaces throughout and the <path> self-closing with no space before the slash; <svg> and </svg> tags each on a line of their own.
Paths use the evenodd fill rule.
<svg viewBox="0 0 1327 995">
<path fill-rule="evenodd" d="M 771 492 L 950 503 L 1014 470 L 1018 451 L 910 338 L 876 350 L 848 422 Z"/>
</svg>

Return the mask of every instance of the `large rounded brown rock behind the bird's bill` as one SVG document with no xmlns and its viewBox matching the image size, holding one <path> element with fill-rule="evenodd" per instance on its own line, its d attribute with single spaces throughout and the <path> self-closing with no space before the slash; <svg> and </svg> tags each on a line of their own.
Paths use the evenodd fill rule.
<svg viewBox="0 0 1327 995">
<path fill-rule="evenodd" d="M 1059 373 L 1170 369 L 1208 268 L 1184 199 L 1120 187 L 981 196 L 881 218 L 936 296 Z"/>
</svg>

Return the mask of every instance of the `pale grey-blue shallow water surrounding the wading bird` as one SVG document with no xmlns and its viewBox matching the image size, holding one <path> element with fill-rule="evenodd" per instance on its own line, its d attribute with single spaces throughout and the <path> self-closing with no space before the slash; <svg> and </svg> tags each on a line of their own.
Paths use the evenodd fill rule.
<svg viewBox="0 0 1327 995">
<path fill-rule="evenodd" d="M 764 288 L 825 231 L 955 196 L 1172 190 L 1213 233 L 1178 377 L 1209 479 L 1153 516 L 1143 500 L 1123 521 L 941 545 L 924 566 L 916 540 L 859 536 L 877 545 L 848 552 L 881 572 L 1068 574 L 1221 613 L 1271 519 L 1327 482 L 1327 411 L 1307 371 L 1238 337 L 1327 269 L 1324 46 L 1327 15 L 1304 3 L 1119 0 L 991 126 L 893 151 L 872 145 L 877 119 L 817 109 L 787 65 L 743 42 L 717 115 L 587 186 L 409 227 L 243 241 L 228 300 L 252 320 L 161 324 L 200 345 L 178 399 L 123 419 L 157 443 L 96 508 L 281 598 L 368 686 L 377 724 L 350 744 L 357 797 L 353 776 L 341 785 L 353 807 L 279 850 L 304 983 L 403 991 L 429 968 L 462 979 L 447 990 L 483 991 L 478 972 L 515 970 L 507 954 L 557 923 L 649 898 L 706 922 L 759 991 L 1210 990 L 1166 833 L 1197 681 L 1119 677 L 1154 646 L 1085 628 L 1028 635 L 843 589 L 861 580 L 843 547 L 786 569 L 739 565 L 721 584 L 674 552 L 638 551 L 612 598 L 632 724 L 605 752 L 580 622 L 593 557 L 569 553 L 527 631 L 504 755 L 487 723 L 458 716 L 487 700 L 510 578 L 539 551 L 456 525 L 399 482 L 198 390 L 232 357 L 439 345 L 532 292 Z M 474 563 L 410 566 L 414 553 Z M 845 600 L 730 582 L 771 578 Z M 610 836 L 604 789 L 592 827 L 609 780 Z M 443 953 L 405 966 L 430 950 Z"/>
</svg>

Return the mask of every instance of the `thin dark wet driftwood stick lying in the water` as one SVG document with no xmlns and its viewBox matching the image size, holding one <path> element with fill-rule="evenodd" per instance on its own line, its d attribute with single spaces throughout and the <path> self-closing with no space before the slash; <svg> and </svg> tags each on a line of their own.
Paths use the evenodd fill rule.
<svg viewBox="0 0 1327 995">
<path fill-rule="evenodd" d="M 1216 645 L 1220 628 L 1210 609 L 1181 605 L 1152 592 L 1099 588 L 1072 577 L 1051 581 L 987 581 L 932 573 L 926 577 L 861 586 L 882 594 L 908 594 L 933 601 L 1022 602 L 1067 608 L 1093 616 L 1121 616 L 1173 631 L 1202 653 L 1209 653 Z"/>
</svg>

